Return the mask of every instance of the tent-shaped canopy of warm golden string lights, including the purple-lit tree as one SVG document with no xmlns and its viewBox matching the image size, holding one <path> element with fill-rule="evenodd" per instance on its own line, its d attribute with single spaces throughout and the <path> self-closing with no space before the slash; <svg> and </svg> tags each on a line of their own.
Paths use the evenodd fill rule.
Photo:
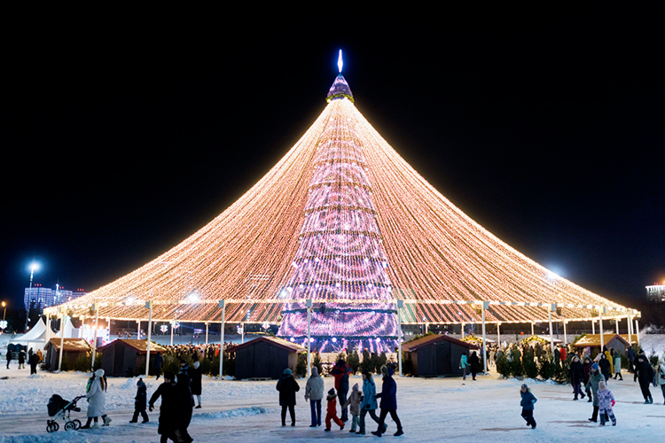
<svg viewBox="0 0 665 443">
<path fill-rule="evenodd" d="M 341 69 L 341 66 L 340 66 Z M 279 324 L 303 338 L 397 337 L 403 323 L 579 321 L 637 311 L 554 275 L 427 183 L 356 109 L 340 74 L 301 139 L 181 244 L 66 303 L 109 319 Z M 59 307 L 46 309 L 54 314 Z"/>
</svg>

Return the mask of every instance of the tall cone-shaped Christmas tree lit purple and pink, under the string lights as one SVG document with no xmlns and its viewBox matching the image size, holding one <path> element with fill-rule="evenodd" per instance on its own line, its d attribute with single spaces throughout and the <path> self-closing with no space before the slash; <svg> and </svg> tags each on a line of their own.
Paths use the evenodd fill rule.
<svg viewBox="0 0 665 443">
<path fill-rule="evenodd" d="M 353 101 L 340 74 L 328 101 L 341 99 Z M 353 302 L 323 302 L 324 307 L 312 313 L 314 349 L 392 351 L 397 338 L 395 299 L 355 120 L 341 114 L 329 119 L 319 140 L 287 298 Z M 278 335 L 306 339 L 307 307 L 287 303 L 282 313 Z"/>
</svg>

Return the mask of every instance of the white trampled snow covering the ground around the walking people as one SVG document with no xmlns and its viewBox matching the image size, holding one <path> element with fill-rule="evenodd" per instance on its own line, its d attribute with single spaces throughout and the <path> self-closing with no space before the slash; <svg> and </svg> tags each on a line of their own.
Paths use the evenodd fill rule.
<svg viewBox="0 0 665 443">
<path fill-rule="evenodd" d="M 665 350 L 663 336 L 643 335 L 646 353 L 654 350 L 662 355 Z M 66 400 L 81 395 L 89 377 L 80 372 L 51 374 L 40 371 L 30 377 L 29 369 L 11 369 L 0 365 L 0 443 L 5 442 L 157 442 L 158 409 L 149 413 L 149 424 L 129 424 L 133 413 L 137 378 L 109 377 L 106 410 L 113 419 L 109 427 L 88 431 L 63 430 L 46 432 L 46 403 L 53 393 Z M 404 427 L 402 441 L 426 442 L 434 440 L 479 440 L 517 443 L 582 441 L 602 439 L 604 443 L 620 441 L 656 441 L 662 438 L 665 405 L 658 388 L 651 388 L 653 405 L 643 404 L 637 383 L 630 374 L 623 381 L 609 382 L 614 393 L 614 413 L 618 424 L 599 427 L 591 424 L 591 404 L 586 400 L 573 401 L 570 385 L 557 385 L 552 381 L 501 379 L 492 372 L 470 377 L 411 378 L 395 377 L 397 383 L 398 414 Z M 145 380 L 148 395 L 160 381 L 153 377 Z M 380 391 L 380 377 L 377 377 Z M 203 379 L 203 408 L 194 409 L 190 433 L 196 441 L 223 439 L 243 443 L 288 440 L 310 442 L 320 439 L 375 439 L 371 434 L 361 437 L 333 426 L 324 432 L 323 426 L 309 428 L 309 404 L 304 399 L 305 380 L 299 379 L 301 392 L 296 406 L 295 427 L 280 425 L 278 392 L 275 381 L 231 381 Z M 352 377 L 350 385 L 362 385 L 361 377 Z M 525 426 L 520 417 L 520 385 L 527 383 L 538 399 L 534 416 L 537 427 Z M 326 391 L 333 386 L 332 377 L 325 378 Z M 73 418 L 85 416 L 85 401 L 79 403 L 82 412 Z M 325 414 L 325 405 L 323 405 Z M 288 420 L 288 419 L 287 419 Z M 376 425 L 367 417 L 368 432 Z M 392 438 L 395 424 L 387 419 L 387 437 Z"/>
</svg>

